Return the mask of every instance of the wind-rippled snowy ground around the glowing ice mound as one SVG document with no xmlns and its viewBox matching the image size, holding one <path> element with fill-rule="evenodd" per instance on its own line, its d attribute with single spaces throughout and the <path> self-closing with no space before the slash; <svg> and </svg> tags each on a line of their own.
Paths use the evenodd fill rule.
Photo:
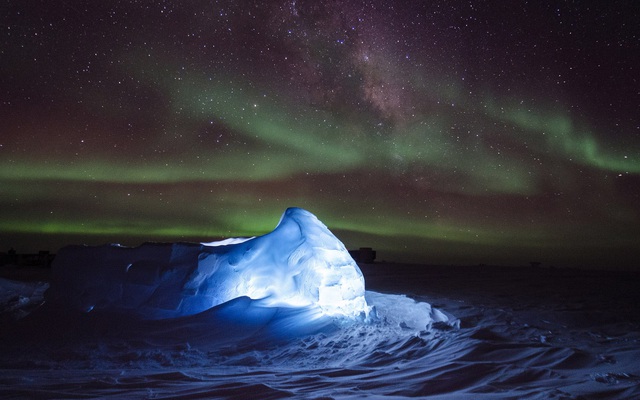
<svg viewBox="0 0 640 400">
<path fill-rule="evenodd" d="M 638 274 L 362 271 L 378 318 L 247 296 L 163 319 L 25 309 L 0 321 L 0 398 L 640 399 Z M 0 300 L 44 287 L 0 279 Z"/>
</svg>

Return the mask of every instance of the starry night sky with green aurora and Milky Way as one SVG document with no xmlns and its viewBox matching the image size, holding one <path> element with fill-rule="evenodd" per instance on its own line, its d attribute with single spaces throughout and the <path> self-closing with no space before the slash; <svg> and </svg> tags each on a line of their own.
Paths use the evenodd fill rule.
<svg viewBox="0 0 640 400">
<path fill-rule="evenodd" d="M 379 260 L 640 268 L 633 0 L 1 8 L 0 251 L 298 206 Z"/>
</svg>

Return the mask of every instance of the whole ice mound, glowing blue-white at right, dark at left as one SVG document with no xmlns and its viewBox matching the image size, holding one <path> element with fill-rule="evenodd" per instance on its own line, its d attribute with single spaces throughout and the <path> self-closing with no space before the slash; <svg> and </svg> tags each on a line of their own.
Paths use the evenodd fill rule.
<svg viewBox="0 0 640 400">
<path fill-rule="evenodd" d="M 143 318 L 193 315 L 240 297 L 266 306 L 368 315 L 362 272 L 313 214 L 289 208 L 264 236 L 214 243 L 68 246 L 53 264 L 52 304 Z"/>
</svg>

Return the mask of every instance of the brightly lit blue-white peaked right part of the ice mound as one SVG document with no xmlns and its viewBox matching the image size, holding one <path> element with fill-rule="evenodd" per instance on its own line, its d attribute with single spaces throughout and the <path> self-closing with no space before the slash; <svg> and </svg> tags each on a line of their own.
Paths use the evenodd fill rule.
<svg viewBox="0 0 640 400">
<path fill-rule="evenodd" d="M 344 245 L 313 214 L 289 208 L 276 229 L 232 245 L 205 244 L 186 287 L 222 303 L 318 305 L 327 315 L 367 314 L 364 278 Z"/>
</svg>

